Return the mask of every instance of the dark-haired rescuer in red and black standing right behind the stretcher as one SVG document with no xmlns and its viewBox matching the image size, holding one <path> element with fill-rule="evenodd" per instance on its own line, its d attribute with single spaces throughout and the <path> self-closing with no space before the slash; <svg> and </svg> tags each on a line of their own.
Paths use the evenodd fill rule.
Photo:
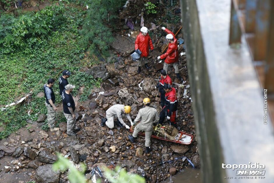
<svg viewBox="0 0 274 183">
<path fill-rule="evenodd" d="M 177 128 L 176 123 L 176 111 L 178 108 L 177 96 L 176 96 L 176 89 L 171 88 L 169 84 L 164 85 L 164 90 L 166 92 L 165 97 L 165 106 L 163 107 L 160 113 L 159 123 L 162 124 L 164 119 L 170 120 L 171 125 Z"/>
</svg>

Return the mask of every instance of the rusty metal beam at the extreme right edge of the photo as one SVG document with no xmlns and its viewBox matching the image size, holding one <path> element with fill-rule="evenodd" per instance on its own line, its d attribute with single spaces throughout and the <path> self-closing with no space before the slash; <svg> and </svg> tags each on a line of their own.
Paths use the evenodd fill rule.
<svg viewBox="0 0 274 183">
<path fill-rule="evenodd" d="M 265 67 L 265 88 L 269 94 L 274 94 L 274 1 L 271 1 L 270 25 Z"/>
</svg>

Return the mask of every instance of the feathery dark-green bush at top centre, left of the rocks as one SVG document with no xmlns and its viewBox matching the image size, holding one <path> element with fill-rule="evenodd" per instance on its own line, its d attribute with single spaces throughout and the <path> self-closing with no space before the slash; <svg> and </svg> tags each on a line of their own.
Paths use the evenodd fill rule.
<svg viewBox="0 0 274 183">
<path fill-rule="evenodd" d="M 114 41 L 110 26 L 117 18 L 116 13 L 126 0 L 96 0 L 84 1 L 89 8 L 80 33 L 84 36 L 81 44 L 89 47 L 91 54 L 101 51 L 108 55 L 109 44 Z"/>
</svg>

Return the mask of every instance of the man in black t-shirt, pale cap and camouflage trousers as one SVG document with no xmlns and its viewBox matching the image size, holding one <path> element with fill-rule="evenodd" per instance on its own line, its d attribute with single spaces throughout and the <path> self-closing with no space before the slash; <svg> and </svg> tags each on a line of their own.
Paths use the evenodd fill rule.
<svg viewBox="0 0 274 183">
<path fill-rule="evenodd" d="M 80 128 L 76 126 L 76 118 L 75 118 L 75 103 L 71 92 L 75 88 L 75 85 L 68 84 L 65 86 L 65 89 L 62 92 L 62 102 L 64 115 L 67 119 L 67 134 L 68 135 L 76 135 L 73 131 L 79 131 Z"/>
</svg>

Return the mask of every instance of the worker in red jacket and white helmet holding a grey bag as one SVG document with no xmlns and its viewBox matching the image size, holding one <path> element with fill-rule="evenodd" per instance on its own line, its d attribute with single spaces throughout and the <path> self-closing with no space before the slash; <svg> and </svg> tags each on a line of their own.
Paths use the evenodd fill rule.
<svg viewBox="0 0 274 183">
<path fill-rule="evenodd" d="M 150 67 L 148 67 L 148 65 L 147 65 L 147 62 L 148 62 L 147 57 L 149 54 L 149 47 L 150 47 L 151 51 L 154 48 L 152 45 L 151 38 L 147 34 L 147 32 L 148 32 L 147 27 L 142 27 L 140 30 L 140 34 L 136 37 L 136 41 L 135 41 L 135 52 L 137 52 L 138 49 L 142 52 L 141 57 L 137 63 L 137 66 L 138 66 L 137 73 L 141 72 L 141 67 L 142 67 L 143 63 L 145 64 L 146 69 L 150 69 Z"/>
</svg>

